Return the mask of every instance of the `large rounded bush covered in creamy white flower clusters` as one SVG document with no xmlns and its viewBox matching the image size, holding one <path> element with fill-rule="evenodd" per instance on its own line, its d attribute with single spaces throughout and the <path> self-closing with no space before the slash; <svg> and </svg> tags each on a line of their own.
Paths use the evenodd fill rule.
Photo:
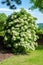
<svg viewBox="0 0 43 65">
<path fill-rule="evenodd" d="M 31 16 L 26 10 L 11 14 L 5 23 L 4 41 L 7 46 L 18 48 L 23 46 L 27 51 L 35 50 L 37 45 L 37 24 L 36 18 Z"/>
</svg>

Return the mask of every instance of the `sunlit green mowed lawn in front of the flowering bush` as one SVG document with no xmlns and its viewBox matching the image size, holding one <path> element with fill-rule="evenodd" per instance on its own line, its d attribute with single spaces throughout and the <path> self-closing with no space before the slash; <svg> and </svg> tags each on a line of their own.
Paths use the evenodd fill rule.
<svg viewBox="0 0 43 65">
<path fill-rule="evenodd" d="M 14 55 L 0 62 L 0 65 L 43 65 L 43 46 L 28 55 Z"/>
</svg>

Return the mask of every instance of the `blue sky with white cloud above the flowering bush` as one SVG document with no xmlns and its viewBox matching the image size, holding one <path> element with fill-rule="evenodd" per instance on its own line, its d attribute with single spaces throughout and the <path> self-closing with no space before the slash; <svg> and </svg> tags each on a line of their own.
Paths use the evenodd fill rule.
<svg viewBox="0 0 43 65">
<path fill-rule="evenodd" d="M 1 4 L 2 0 L 0 0 L 0 13 L 5 13 L 6 15 L 10 15 L 11 13 L 13 13 L 14 11 L 19 11 L 20 8 L 24 8 L 26 10 L 29 9 L 29 7 L 31 7 L 32 4 L 29 3 L 29 0 L 22 0 L 22 4 L 17 6 L 16 10 L 11 10 L 9 9 L 9 7 L 6 6 L 6 4 L 2 5 Z M 28 12 L 30 14 L 32 14 L 32 16 L 36 17 L 38 20 L 36 21 L 37 23 L 43 23 L 43 14 L 38 10 L 28 10 Z"/>
</svg>

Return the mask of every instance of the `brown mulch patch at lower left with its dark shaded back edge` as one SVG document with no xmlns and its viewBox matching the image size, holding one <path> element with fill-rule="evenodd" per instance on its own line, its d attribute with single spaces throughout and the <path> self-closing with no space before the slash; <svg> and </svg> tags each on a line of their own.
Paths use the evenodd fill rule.
<svg viewBox="0 0 43 65">
<path fill-rule="evenodd" d="M 14 54 L 11 53 L 9 50 L 0 48 L 0 62 L 13 56 Z"/>
</svg>

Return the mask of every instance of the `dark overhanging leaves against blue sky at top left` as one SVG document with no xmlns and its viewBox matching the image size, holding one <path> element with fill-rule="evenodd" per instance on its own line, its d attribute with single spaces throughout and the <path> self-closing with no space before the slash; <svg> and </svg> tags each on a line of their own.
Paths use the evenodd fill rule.
<svg viewBox="0 0 43 65">
<path fill-rule="evenodd" d="M 15 4 L 20 5 L 21 4 L 21 0 L 2 0 L 2 4 L 5 4 L 7 6 L 9 6 L 10 9 L 16 9 L 17 7 L 15 6 Z"/>
</svg>

